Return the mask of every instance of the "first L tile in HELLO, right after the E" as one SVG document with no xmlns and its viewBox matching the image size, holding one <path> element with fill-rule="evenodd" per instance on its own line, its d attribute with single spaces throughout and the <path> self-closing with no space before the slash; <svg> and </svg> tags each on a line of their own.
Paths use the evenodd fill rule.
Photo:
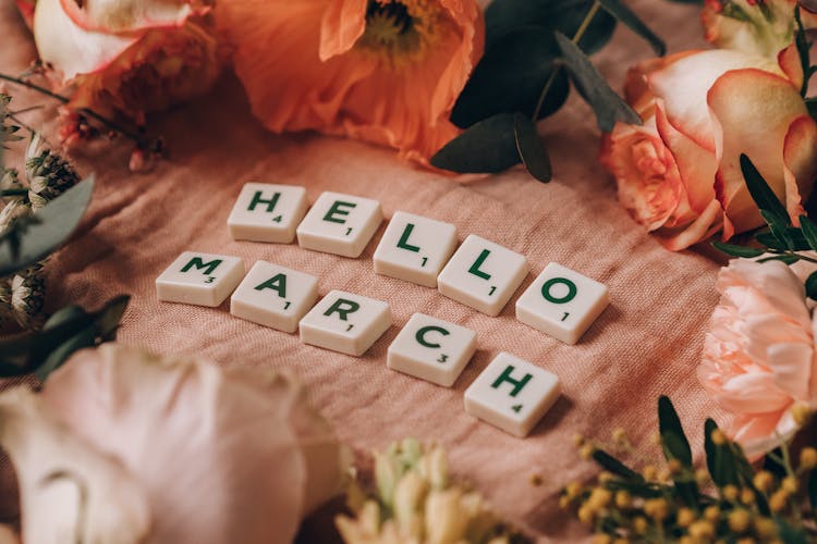
<svg viewBox="0 0 817 544">
<path fill-rule="evenodd" d="M 375 272 L 437 287 L 437 276 L 455 247 L 454 225 L 398 211 L 375 250 Z"/>
</svg>

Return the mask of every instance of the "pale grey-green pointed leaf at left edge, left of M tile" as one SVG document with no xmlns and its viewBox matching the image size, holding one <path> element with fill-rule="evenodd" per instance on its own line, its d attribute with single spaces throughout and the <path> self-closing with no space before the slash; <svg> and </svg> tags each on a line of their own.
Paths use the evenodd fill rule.
<svg viewBox="0 0 817 544">
<path fill-rule="evenodd" d="M 74 232 L 94 190 L 93 177 L 76 184 L 37 212 L 38 223 L 28 225 L 20 238 L 17 258 L 9 244 L 0 245 L 0 276 L 28 268 L 53 252 Z"/>
</svg>

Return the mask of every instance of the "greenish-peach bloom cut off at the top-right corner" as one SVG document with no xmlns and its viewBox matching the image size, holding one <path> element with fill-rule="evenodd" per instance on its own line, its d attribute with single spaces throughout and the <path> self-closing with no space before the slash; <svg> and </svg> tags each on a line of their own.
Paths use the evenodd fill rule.
<svg viewBox="0 0 817 544">
<path fill-rule="evenodd" d="M 716 47 L 775 58 L 794 38 L 797 0 L 706 0 L 700 12 L 705 37 Z M 801 2 L 806 28 L 817 27 L 817 13 Z"/>
</svg>

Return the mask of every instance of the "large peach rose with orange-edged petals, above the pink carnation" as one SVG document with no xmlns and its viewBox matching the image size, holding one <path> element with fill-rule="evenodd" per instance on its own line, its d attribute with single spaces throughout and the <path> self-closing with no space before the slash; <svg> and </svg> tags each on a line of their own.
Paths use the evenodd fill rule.
<svg viewBox="0 0 817 544">
<path fill-rule="evenodd" d="M 732 50 L 687 51 L 636 65 L 627 101 L 642 126 L 618 123 L 600 160 L 633 218 L 680 250 L 763 224 L 740 168 L 746 153 L 796 224 L 817 176 L 817 125 L 800 96 L 790 47 L 779 62 Z"/>
</svg>

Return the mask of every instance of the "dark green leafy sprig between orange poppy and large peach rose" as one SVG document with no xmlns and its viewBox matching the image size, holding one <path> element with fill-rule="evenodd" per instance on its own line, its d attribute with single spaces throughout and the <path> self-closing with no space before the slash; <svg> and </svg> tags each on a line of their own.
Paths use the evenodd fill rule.
<svg viewBox="0 0 817 544">
<path fill-rule="evenodd" d="M 431 164 L 485 173 L 522 162 L 537 180 L 550 181 L 550 158 L 536 123 L 564 104 L 571 82 L 601 131 L 612 131 L 617 121 L 641 124 L 588 57 L 610 40 L 617 23 L 664 54 L 663 41 L 621 0 L 495 0 L 485 20 L 485 54 L 451 115 L 465 131 Z"/>
</svg>

